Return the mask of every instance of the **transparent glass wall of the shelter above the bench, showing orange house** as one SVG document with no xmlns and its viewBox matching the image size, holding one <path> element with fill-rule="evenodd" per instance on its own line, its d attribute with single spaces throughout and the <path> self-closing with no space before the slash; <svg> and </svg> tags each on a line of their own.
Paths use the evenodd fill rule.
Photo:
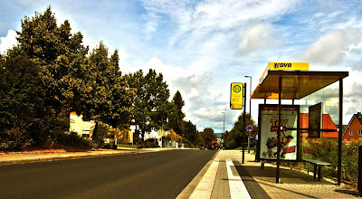
<svg viewBox="0 0 362 199">
<path fill-rule="evenodd" d="M 318 90 L 295 104 L 300 105 L 300 157 L 318 158 L 319 147 L 326 143 L 338 144 L 339 86 L 335 82 Z M 334 145 L 333 145 L 334 146 Z M 331 149 L 330 153 L 337 153 Z"/>
</svg>

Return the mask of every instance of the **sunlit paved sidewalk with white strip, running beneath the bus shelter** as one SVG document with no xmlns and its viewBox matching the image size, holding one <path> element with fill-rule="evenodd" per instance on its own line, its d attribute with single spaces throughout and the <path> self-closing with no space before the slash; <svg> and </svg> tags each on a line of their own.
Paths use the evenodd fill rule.
<svg viewBox="0 0 362 199">
<path fill-rule="evenodd" d="M 276 184 L 275 166 L 266 163 L 262 170 L 247 151 L 243 165 L 242 158 L 240 150 L 219 151 L 177 198 L 357 198 L 345 185 L 318 182 L 290 168 L 281 167 L 281 184 Z"/>
</svg>

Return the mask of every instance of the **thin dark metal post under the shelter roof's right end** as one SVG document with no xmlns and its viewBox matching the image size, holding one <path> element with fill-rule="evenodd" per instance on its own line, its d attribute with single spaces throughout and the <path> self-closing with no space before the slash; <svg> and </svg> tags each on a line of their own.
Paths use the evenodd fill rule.
<svg viewBox="0 0 362 199">
<path fill-rule="evenodd" d="M 343 79 L 339 79 L 339 131 L 338 131 L 338 182 L 340 185 L 340 176 L 342 171 L 342 116 L 343 116 Z"/>
</svg>

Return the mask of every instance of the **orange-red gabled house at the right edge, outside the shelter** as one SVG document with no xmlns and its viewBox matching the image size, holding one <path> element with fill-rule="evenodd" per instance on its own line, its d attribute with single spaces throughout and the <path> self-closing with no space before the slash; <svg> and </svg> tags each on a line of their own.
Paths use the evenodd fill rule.
<svg viewBox="0 0 362 199">
<path fill-rule="evenodd" d="M 343 140 L 350 141 L 352 139 L 362 139 L 362 115 L 360 112 L 352 116 L 343 132 Z"/>
</svg>

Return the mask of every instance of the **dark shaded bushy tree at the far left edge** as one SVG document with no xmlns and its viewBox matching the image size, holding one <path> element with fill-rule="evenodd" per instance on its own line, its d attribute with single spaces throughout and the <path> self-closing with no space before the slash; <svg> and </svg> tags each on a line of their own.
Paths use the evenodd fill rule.
<svg viewBox="0 0 362 199">
<path fill-rule="evenodd" d="M 1 59 L 0 143 L 3 149 L 23 149 L 46 115 L 40 67 L 22 55 Z"/>
</svg>

